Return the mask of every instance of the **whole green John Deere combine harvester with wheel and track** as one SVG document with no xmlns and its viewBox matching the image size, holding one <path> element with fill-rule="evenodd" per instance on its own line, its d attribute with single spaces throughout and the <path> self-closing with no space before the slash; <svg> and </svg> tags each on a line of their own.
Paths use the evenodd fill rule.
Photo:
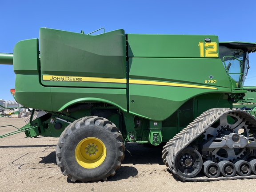
<svg viewBox="0 0 256 192">
<path fill-rule="evenodd" d="M 115 175 L 126 142 L 166 143 L 180 180 L 232 180 L 256 178 L 256 110 L 233 105 L 251 52 L 256 43 L 214 35 L 40 28 L 0 63 L 13 63 L 15 99 L 33 108 L 20 131 L 59 137 L 56 161 L 72 182 Z"/>
</svg>

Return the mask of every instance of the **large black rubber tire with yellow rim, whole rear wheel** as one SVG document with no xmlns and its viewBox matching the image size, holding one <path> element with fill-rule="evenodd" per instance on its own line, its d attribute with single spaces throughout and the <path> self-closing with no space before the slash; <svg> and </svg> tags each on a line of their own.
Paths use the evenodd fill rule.
<svg viewBox="0 0 256 192">
<path fill-rule="evenodd" d="M 103 117 L 83 117 L 60 135 L 56 161 L 72 182 L 107 180 L 121 167 L 124 149 L 124 138 L 112 122 Z"/>
</svg>

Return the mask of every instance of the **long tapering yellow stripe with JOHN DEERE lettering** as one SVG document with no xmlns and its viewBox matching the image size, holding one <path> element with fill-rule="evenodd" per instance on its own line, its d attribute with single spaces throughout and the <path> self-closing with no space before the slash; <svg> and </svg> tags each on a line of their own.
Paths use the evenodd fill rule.
<svg viewBox="0 0 256 192">
<path fill-rule="evenodd" d="M 114 79 L 114 78 L 101 78 L 101 77 L 83 77 L 83 76 L 52 76 L 43 75 L 44 81 L 68 81 L 68 82 L 96 82 L 96 83 L 121 83 L 125 84 L 126 79 Z M 150 80 L 129 80 L 129 84 L 146 84 L 146 85 L 160 85 L 160 86 L 171 86 L 171 87 L 186 87 L 186 88 L 204 88 L 204 89 L 215 89 L 215 87 L 192 85 L 192 84 L 179 84 L 179 83 L 168 83 L 163 81 L 150 81 Z"/>
</svg>

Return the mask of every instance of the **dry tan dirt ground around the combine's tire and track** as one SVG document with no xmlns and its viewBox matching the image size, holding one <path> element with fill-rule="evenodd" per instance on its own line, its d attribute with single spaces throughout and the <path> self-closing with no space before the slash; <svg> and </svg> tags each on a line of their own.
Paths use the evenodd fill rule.
<svg viewBox="0 0 256 192">
<path fill-rule="evenodd" d="M 24 125 L 23 118 L 0 117 L 0 126 Z M 0 128 L 0 135 L 15 131 Z M 161 146 L 126 144 L 122 167 L 108 181 L 71 183 L 56 164 L 58 138 L 24 138 L 24 133 L 0 139 L 0 192 L 238 192 L 256 191 L 255 179 L 211 182 L 176 180 L 161 159 Z"/>
</svg>

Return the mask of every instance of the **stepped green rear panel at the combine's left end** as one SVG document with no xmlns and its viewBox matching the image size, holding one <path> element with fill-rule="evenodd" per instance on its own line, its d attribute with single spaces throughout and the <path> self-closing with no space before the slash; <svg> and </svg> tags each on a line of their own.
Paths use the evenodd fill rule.
<svg viewBox="0 0 256 192">
<path fill-rule="evenodd" d="M 18 42 L 13 50 L 16 101 L 29 108 L 52 111 L 51 88 L 40 84 L 38 39 Z"/>
</svg>

